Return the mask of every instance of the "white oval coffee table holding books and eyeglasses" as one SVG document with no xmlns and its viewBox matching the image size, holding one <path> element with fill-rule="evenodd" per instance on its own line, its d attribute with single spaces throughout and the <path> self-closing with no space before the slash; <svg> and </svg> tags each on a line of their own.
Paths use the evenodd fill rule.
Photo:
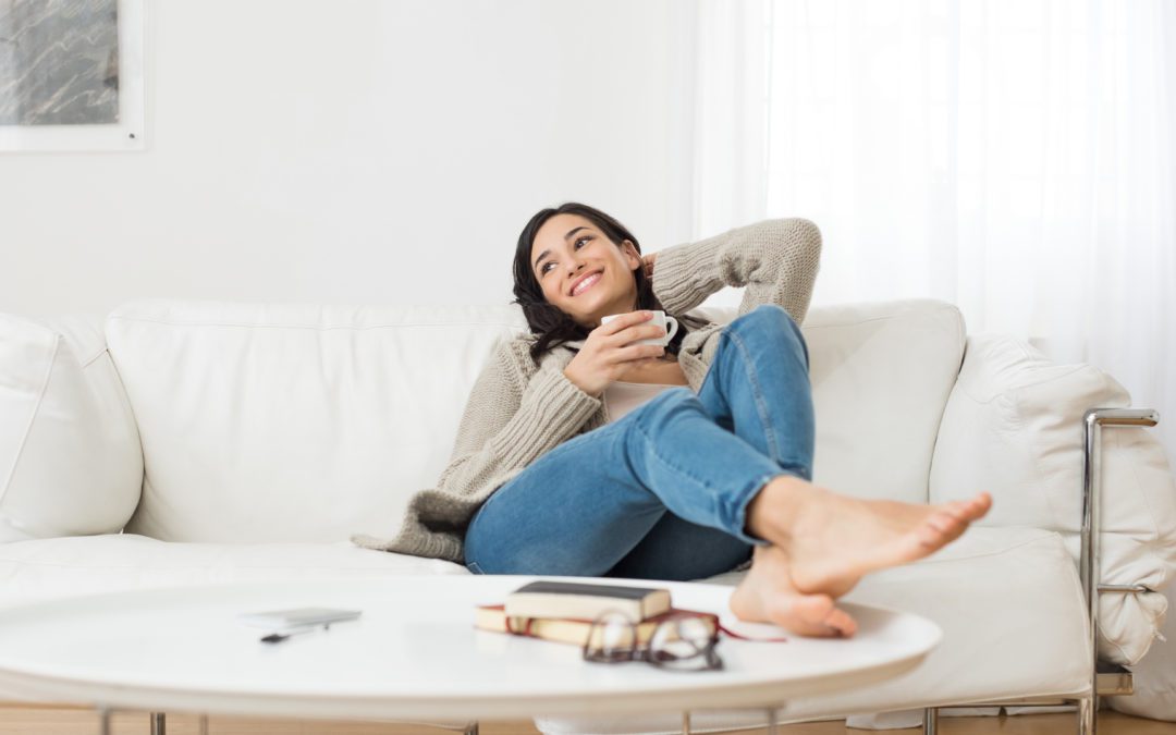
<svg viewBox="0 0 1176 735">
<path fill-rule="evenodd" d="M 405 576 L 109 593 L 0 612 L 0 687 L 102 709 L 359 720 L 500 720 L 547 715 L 780 708 L 880 682 L 940 642 L 930 621 L 846 604 L 848 640 L 723 636 L 720 671 L 590 663 L 575 646 L 475 630 L 474 606 L 532 576 Z M 559 579 L 559 577 L 552 577 Z M 576 581 L 583 581 L 576 580 Z M 615 583 L 649 584 L 609 580 Z M 659 583 L 676 607 L 727 612 L 731 588 Z M 267 644 L 241 613 L 356 608 L 360 620 Z"/>
</svg>

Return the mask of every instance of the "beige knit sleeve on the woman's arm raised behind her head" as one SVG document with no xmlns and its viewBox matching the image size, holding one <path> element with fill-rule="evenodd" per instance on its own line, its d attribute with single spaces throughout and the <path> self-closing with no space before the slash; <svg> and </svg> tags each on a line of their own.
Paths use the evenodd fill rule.
<svg viewBox="0 0 1176 735">
<path fill-rule="evenodd" d="M 654 294 L 683 314 L 724 286 L 746 287 L 739 314 L 761 303 L 804 320 L 821 260 L 821 230 L 800 219 L 764 220 L 657 253 Z"/>
</svg>

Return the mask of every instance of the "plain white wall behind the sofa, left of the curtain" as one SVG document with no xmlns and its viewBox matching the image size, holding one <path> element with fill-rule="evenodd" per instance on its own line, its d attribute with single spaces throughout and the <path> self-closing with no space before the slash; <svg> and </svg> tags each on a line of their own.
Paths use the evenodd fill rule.
<svg viewBox="0 0 1176 735">
<path fill-rule="evenodd" d="M 674 0 L 149 4 L 147 151 L 0 154 L 0 312 L 506 303 L 568 199 L 690 238 Z M 710 233 L 706 233 L 710 234 Z"/>
</svg>

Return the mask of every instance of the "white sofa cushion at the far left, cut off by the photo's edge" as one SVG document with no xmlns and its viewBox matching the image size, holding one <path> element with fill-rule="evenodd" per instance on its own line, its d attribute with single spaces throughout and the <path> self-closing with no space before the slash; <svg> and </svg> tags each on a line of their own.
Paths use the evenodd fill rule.
<svg viewBox="0 0 1176 735">
<path fill-rule="evenodd" d="M 118 533 L 141 483 L 102 318 L 0 314 L 0 542 Z"/>
</svg>

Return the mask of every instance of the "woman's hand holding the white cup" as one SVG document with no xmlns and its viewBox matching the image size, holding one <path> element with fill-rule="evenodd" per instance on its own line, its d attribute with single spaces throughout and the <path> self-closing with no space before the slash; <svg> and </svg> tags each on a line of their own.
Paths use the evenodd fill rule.
<svg viewBox="0 0 1176 735">
<path fill-rule="evenodd" d="M 588 395 L 600 397 L 614 380 L 633 368 L 666 354 L 661 345 L 633 345 L 636 340 L 664 336 L 657 325 L 647 325 L 653 312 L 629 312 L 588 333 L 583 347 L 563 374 Z"/>
</svg>

